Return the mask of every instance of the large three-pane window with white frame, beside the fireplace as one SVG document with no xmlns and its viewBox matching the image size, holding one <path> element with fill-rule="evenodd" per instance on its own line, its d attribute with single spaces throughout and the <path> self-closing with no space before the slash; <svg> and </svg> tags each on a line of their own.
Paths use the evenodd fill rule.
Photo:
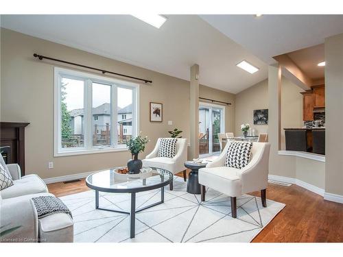
<svg viewBox="0 0 343 257">
<path fill-rule="evenodd" d="M 55 68 L 55 156 L 126 149 L 139 85 Z"/>
</svg>

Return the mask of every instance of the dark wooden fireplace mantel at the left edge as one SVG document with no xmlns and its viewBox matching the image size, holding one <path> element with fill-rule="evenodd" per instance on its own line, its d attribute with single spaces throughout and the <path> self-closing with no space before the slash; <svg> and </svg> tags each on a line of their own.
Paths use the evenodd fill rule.
<svg viewBox="0 0 343 257">
<path fill-rule="evenodd" d="M 8 163 L 18 163 L 25 175 L 25 127 L 27 122 L 0 122 L 0 146 L 10 147 Z"/>
</svg>

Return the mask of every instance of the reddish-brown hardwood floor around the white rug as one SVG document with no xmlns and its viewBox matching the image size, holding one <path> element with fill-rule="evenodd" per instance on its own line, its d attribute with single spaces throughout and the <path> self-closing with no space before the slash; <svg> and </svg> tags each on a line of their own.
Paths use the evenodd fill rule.
<svg viewBox="0 0 343 257">
<path fill-rule="evenodd" d="M 84 180 L 48 188 L 57 197 L 89 190 Z M 269 184 L 267 198 L 286 206 L 252 242 L 343 242 L 343 204 L 325 201 L 296 185 Z"/>
</svg>

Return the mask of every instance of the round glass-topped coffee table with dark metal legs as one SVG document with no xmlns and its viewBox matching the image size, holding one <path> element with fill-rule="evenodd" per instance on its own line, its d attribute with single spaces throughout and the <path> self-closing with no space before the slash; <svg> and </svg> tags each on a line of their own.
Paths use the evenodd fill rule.
<svg viewBox="0 0 343 257">
<path fill-rule="evenodd" d="M 136 175 L 123 175 L 116 172 L 117 169 L 98 171 L 86 178 L 86 185 L 95 190 L 95 208 L 130 215 L 130 238 L 134 238 L 134 225 L 136 212 L 162 204 L 165 198 L 164 186 L 173 181 L 173 174 L 165 169 L 152 168 L 150 173 Z M 161 201 L 136 210 L 136 193 L 161 188 Z M 99 207 L 99 192 L 106 193 L 130 193 L 130 212 Z"/>
</svg>

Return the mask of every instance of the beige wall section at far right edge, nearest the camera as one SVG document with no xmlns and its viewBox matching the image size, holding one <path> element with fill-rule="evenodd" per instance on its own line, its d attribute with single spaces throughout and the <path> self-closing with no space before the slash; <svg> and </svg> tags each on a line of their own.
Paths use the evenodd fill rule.
<svg viewBox="0 0 343 257">
<path fill-rule="evenodd" d="M 325 39 L 325 191 L 343 195 L 343 34 Z"/>
</svg>

